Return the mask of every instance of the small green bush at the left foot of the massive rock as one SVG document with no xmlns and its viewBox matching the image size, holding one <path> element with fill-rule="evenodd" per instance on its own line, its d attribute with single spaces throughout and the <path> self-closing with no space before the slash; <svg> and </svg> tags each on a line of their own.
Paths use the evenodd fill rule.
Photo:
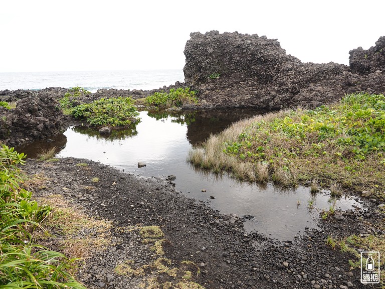
<svg viewBox="0 0 385 289">
<path fill-rule="evenodd" d="M 185 103 L 198 103 L 195 91 L 186 88 L 171 88 L 169 93 L 155 92 L 144 99 L 146 105 L 167 108 L 172 106 L 181 106 Z"/>
</svg>

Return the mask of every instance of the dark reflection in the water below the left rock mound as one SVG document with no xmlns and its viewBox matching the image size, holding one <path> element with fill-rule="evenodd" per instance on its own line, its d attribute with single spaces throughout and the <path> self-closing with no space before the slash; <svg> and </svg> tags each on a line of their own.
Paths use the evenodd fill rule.
<svg viewBox="0 0 385 289">
<path fill-rule="evenodd" d="M 56 134 L 48 139 L 41 139 L 25 146 L 16 147 L 16 150 L 18 153 L 26 154 L 27 158 L 35 159 L 42 150 L 56 147 L 56 153 L 59 153 L 66 147 L 67 136 L 63 133 Z"/>
</svg>

